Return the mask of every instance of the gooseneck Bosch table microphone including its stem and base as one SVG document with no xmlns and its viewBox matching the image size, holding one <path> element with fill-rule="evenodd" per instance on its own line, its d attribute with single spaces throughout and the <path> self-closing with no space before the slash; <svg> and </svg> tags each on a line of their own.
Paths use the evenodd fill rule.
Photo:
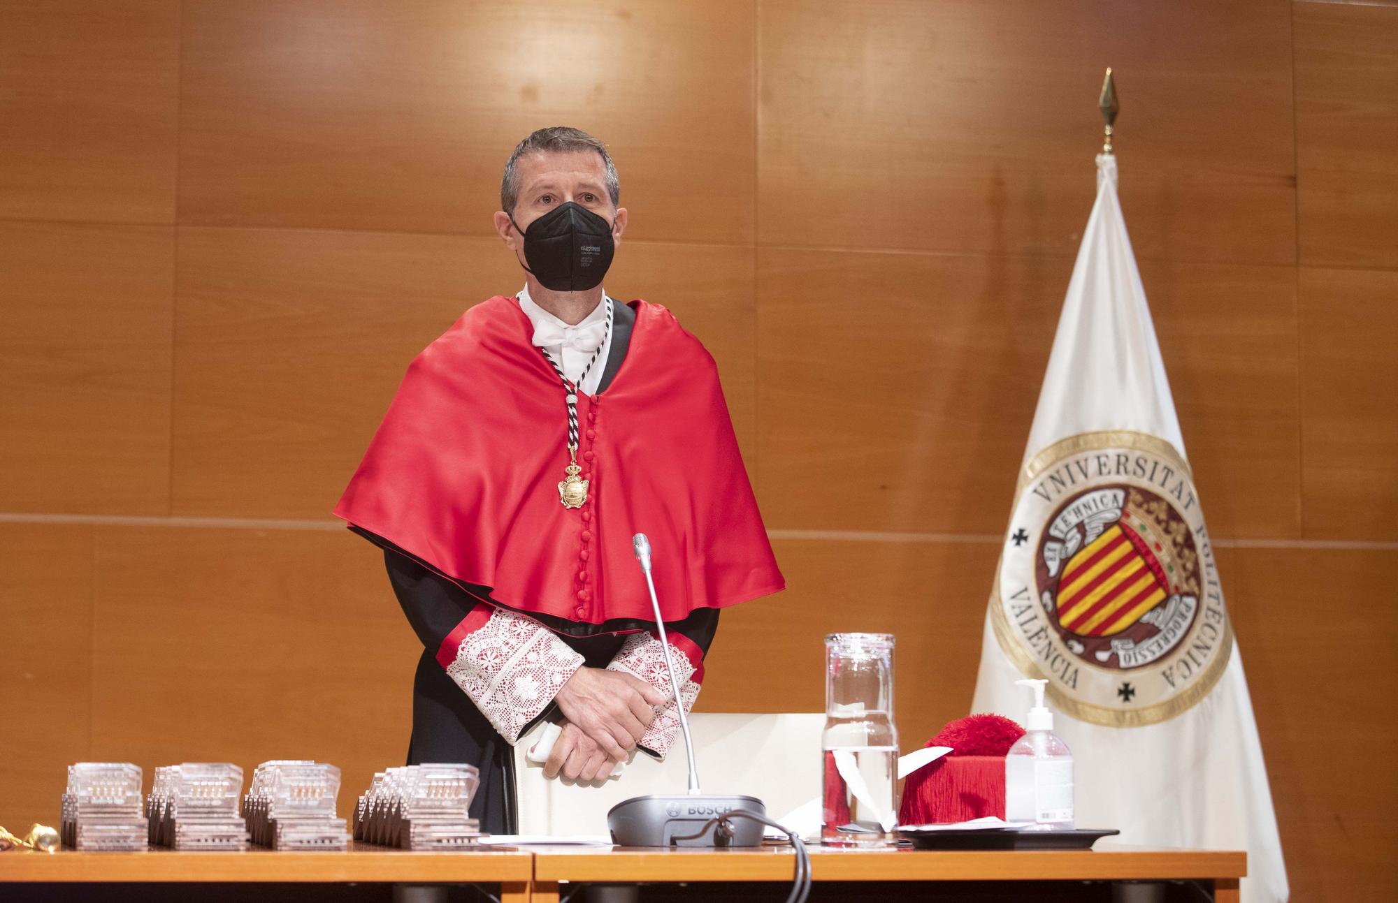
<svg viewBox="0 0 1398 903">
<path fill-rule="evenodd" d="M 675 661 L 670 654 L 665 619 L 660 614 L 656 581 L 650 576 L 650 540 L 644 533 L 630 538 L 636 561 L 646 575 L 650 590 L 650 609 L 660 629 L 660 649 L 670 671 L 670 691 L 679 710 L 679 728 L 685 735 L 685 755 L 689 758 L 688 795 L 632 797 L 622 800 L 607 812 L 607 828 L 612 843 L 624 847 L 758 847 L 762 846 L 762 825 L 768 809 L 756 797 L 735 794 L 703 794 L 699 790 L 699 769 L 695 766 L 695 744 L 689 734 L 689 716 L 679 698 Z M 624 776 L 625 779 L 625 776 Z"/>
</svg>

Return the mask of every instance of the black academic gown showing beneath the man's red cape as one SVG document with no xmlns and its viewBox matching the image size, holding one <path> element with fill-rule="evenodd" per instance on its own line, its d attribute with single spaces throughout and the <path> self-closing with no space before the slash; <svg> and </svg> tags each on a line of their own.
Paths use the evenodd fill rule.
<svg viewBox="0 0 1398 903">
<path fill-rule="evenodd" d="M 626 305 L 615 305 L 611 349 L 598 382 L 603 394 L 611 384 L 626 356 L 636 313 Z M 436 653 L 447 635 L 480 601 L 500 605 L 491 598 L 488 587 L 461 587 L 426 568 L 408 552 L 383 537 L 366 530 L 356 533 L 383 547 L 389 580 L 398 597 L 403 614 L 422 642 L 417 675 L 412 681 L 412 737 L 408 742 L 408 765 L 424 762 L 466 762 L 481 769 L 481 786 L 471 801 L 471 816 L 481 819 L 481 830 L 492 835 L 513 835 L 519 830 L 514 807 L 513 749 L 487 720 L 475 703 L 457 686 L 438 663 Z M 461 537 L 470 542 L 470 537 Z M 582 654 L 584 667 L 605 667 L 626 640 L 621 630 L 643 630 L 650 622 L 633 619 L 604 623 L 579 623 L 548 615 L 530 614 L 554 630 Z M 665 629 L 682 633 L 705 653 L 719 628 L 719 609 L 699 608 L 684 621 L 665 622 Z M 541 720 L 558 720 L 558 703 L 551 703 L 534 721 L 520 731 L 523 737 Z"/>
</svg>

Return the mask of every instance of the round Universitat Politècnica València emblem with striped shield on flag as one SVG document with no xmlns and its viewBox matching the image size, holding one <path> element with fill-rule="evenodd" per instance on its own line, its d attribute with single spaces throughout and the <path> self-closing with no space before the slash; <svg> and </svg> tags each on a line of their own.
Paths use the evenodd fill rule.
<svg viewBox="0 0 1398 903">
<path fill-rule="evenodd" d="M 1082 433 L 1018 488 L 991 604 L 1005 654 L 1083 721 L 1153 724 L 1202 699 L 1233 646 L 1188 464 L 1155 436 Z"/>
</svg>

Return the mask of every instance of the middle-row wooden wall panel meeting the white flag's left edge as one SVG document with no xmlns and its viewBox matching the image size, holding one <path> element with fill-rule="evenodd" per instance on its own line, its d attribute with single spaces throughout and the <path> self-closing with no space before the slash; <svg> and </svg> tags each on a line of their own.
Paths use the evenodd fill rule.
<svg viewBox="0 0 1398 903">
<path fill-rule="evenodd" d="M 761 249 L 768 527 L 998 534 L 1071 268 Z"/>
</svg>

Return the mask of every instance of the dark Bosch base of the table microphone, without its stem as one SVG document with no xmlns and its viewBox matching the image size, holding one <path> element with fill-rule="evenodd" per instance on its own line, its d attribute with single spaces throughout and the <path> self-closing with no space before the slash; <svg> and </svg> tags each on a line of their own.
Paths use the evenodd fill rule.
<svg viewBox="0 0 1398 903">
<path fill-rule="evenodd" d="M 766 818 L 768 808 L 756 797 L 731 794 L 672 794 L 622 800 L 607 814 L 612 843 L 621 847 L 761 847 L 762 822 L 735 818 L 731 836 L 706 822 L 742 811 Z"/>
</svg>

